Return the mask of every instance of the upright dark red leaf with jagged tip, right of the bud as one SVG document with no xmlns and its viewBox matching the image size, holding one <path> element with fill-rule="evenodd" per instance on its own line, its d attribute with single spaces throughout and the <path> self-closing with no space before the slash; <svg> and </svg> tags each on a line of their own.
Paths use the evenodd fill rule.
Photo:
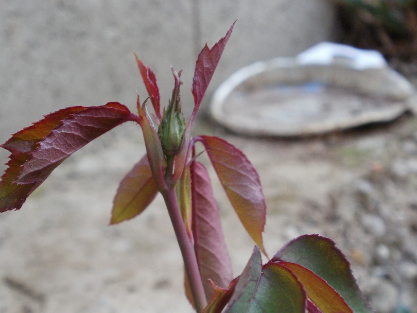
<svg viewBox="0 0 417 313">
<path fill-rule="evenodd" d="M 201 100 L 206 93 L 211 77 L 213 77 L 214 70 L 219 63 L 223 50 L 225 50 L 227 40 L 229 40 L 229 37 L 232 34 L 235 23 L 236 21 L 230 26 L 226 36 L 220 39 L 213 48 L 209 49 L 209 46 L 206 44 L 198 55 L 195 64 L 194 78 L 192 79 L 192 95 L 194 96 L 194 104 L 197 108 L 200 106 Z"/>
</svg>

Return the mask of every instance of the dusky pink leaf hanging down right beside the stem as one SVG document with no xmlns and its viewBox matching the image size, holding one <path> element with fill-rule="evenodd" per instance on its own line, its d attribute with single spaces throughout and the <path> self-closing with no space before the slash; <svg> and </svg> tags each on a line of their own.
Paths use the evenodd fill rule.
<svg viewBox="0 0 417 313">
<path fill-rule="evenodd" d="M 213 295 L 209 279 L 226 288 L 232 280 L 232 264 L 220 223 L 209 173 L 200 162 L 191 165 L 194 249 L 207 299 Z"/>
</svg>

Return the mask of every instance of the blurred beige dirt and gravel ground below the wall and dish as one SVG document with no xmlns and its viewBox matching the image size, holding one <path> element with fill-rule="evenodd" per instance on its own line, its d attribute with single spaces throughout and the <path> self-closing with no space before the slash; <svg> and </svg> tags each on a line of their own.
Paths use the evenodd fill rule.
<svg viewBox="0 0 417 313">
<path fill-rule="evenodd" d="M 415 116 L 303 139 L 246 138 L 208 120 L 196 133 L 228 140 L 258 170 L 270 255 L 300 234 L 329 236 L 377 312 L 417 312 Z M 116 128 L 1 214 L 0 313 L 192 312 L 162 199 L 108 226 L 118 182 L 144 152 L 139 127 Z M 237 276 L 253 242 L 209 169 Z"/>
</svg>

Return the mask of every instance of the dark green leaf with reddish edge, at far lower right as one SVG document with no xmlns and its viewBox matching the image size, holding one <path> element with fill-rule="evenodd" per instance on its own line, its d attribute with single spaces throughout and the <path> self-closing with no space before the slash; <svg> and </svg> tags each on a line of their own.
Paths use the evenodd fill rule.
<svg viewBox="0 0 417 313">
<path fill-rule="evenodd" d="M 350 264 L 335 243 L 319 235 L 302 235 L 285 244 L 271 262 L 292 262 L 315 273 L 343 297 L 354 312 L 373 312 L 362 295 Z"/>
</svg>

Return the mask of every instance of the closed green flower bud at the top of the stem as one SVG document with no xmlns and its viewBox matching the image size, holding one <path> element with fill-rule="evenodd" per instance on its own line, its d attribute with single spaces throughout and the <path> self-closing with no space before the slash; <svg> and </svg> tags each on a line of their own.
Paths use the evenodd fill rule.
<svg viewBox="0 0 417 313">
<path fill-rule="evenodd" d="M 173 98 L 168 104 L 167 109 L 164 109 L 162 121 L 158 128 L 158 135 L 161 139 L 165 156 L 175 156 L 178 153 L 185 132 L 185 119 L 181 112 L 181 100 L 179 96 L 179 75 L 174 72 L 174 77 L 175 87 L 173 90 Z"/>
</svg>

